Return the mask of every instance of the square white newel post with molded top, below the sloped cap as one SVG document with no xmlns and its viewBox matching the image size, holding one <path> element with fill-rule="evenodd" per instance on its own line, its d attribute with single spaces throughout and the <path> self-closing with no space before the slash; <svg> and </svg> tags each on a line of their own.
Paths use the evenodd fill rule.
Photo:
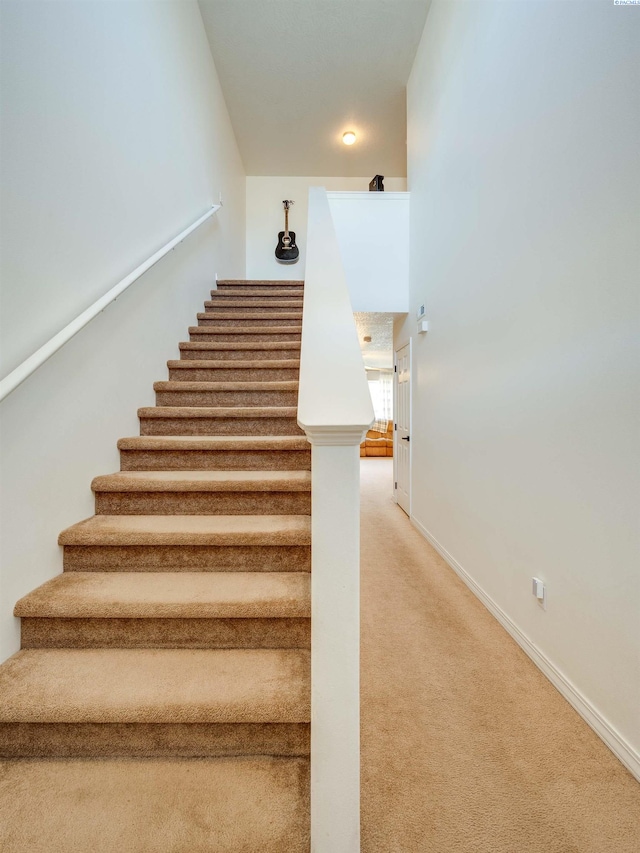
<svg viewBox="0 0 640 853">
<path fill-rule="evenodd" d="M 311 487 L 312 853 L 360 850 L 360 441 L 307 430 Z"/>
</svg>

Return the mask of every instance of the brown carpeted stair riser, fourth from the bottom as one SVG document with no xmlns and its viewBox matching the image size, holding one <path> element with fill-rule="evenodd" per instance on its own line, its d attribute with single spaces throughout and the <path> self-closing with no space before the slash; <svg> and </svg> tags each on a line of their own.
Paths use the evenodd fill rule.
<svg viewBox="0 0 640 853">
<path fill-rule="evenodd" d="M 96 515 L 311 515 L 311 494 L 98 492 Z"/>
</svg>

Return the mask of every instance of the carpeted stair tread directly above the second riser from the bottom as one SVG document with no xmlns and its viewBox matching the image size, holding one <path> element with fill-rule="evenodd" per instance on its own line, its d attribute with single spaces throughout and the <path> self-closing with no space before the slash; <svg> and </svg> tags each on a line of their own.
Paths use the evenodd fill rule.
<svg viewBox="0 0 640 853">
<path fill-rule="evenodd" d="M 294 619 L 310 616 L 307 572 L 65 572 L 21 598 L 45 619 Z"/>
</svg>

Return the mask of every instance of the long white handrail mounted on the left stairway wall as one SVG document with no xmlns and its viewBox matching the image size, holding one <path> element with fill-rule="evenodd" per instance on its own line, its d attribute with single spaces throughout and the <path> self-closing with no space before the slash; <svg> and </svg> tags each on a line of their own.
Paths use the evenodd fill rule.
<svg viewBox="0 0 640 853">
<path fill-rule="evenodd" d="M 179 243 L 182 243 L 182 241 L 188 237 L 192 231 L 195 231 L 203 222 L 206 222 L 206 220 L 209 219 L 210 216 L 213 216 L 217 210 L 220 210 L 221 206 L 222 205 L 220 204 L 214 204 L 210 210 L 193 222 L 188 228 L 185 228 L 184 231 L 181 231 L 180 234 L 178 234 L 177 237 L 174 237 L 173 240 L 166 244 L 166 246 L 163 246 L 162 249 L 157 251 L 154 255 L 151 255 L 151 257 L 144 263 L 136 267 L 126 278 L 119 281 L 115 287 L 112 287 L 111 290 L 105 293 L 104 296 L 101 296 L 100 299 L 94 302 L 93 305 L 86 309 L 86 311 L 79 314 L 75 320 L 72 320 L 64 327 L 64 329 L 58 332 L 57 335 L 54 335 L 51 340 L 47 341 L 47 343 L 41 346 L 40 349 L 36 350 L 33 355 L 30 355 L 29 358 L 25 359 L 22 364 L 15 368 L 15 370 L 12 370 L 11 373 L 7 374 L 7 376 L 0 381 L 0 402 L 12 391 L 15 391 L 18 385 L 21 385 L 25 379 L 28 379 L 32 373 L 41 367 L 45 361 L 51 358 L 51 356 L 63 347 L 67 341 L 70 341 L 74 335 L 77 335 L 78 332 L 87 325 L 87 323 L 90 323 L 94 317 L 96 317 L 101 311 L 104 311 L 107 305 L 114 302 L 120 294 L 124 293 L 124 291 L 130 287 L 134 281 L 139 279 L 141 275 L 147 272 L 147 270 L 151 269 L 154 264 L 157 264 L 158 261 L 162 260 L 162 258 L 164 258 L 164 256 L 172 249 L 175 249 Z"/>
</svg>

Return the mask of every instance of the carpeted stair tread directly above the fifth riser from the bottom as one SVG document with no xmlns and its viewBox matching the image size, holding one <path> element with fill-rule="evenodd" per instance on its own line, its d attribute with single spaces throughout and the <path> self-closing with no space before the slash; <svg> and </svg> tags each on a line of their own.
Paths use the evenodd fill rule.
<svg viewBox="0 0 640 853">
<path fill-rule="evenodd" d="M 118 450 L 309 450 L 295 435 L 134 435 L 118 440 Z"/>
</svg>

